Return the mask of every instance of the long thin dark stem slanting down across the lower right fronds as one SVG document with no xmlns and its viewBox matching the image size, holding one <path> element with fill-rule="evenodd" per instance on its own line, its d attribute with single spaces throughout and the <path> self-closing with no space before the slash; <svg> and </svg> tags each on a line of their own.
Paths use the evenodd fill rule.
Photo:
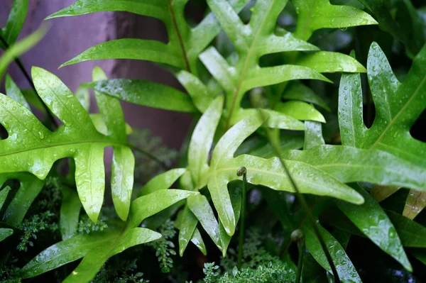
<svg viewBox="0 0 426 283">
<path fill-rule="evenodd" d="M 266 120 L 267 117 L 265 117 L 264 114 L 261 111 L 259 111 L 259 115 L 261 115 L 262 118 L 264 118 Z M 315 221 L 314 217 L 312 216 L 312 213 L 309 209 L 309 206 L 307 206 L 307 202 L 305 200 L 305 197 L 302 194 L 300 194 L 300 191 L 297 188 L 295 180 L 291 176 L 290 171 L 288 171 L 287 165 L 285 165 L 285 162 L 284 162 L 283 157 L 281 155 L 279 142 L 278 142 L 278 140 L 276 140 L 277 135 L 273 135 L 269 128 L 266 128 L 266 133 L 268 134 L 268 139 L 269 139 L 269 142 L 272 145 L 273 151 L 275 152 L 275 155 L 277 155 L 278 160 L 280 160 L 281 166 L 283 167 L 285 174 L 287 174 L 288 179 L 290 180 L 290 184 L 291 184 L 291 186 L 293 187 L 293 189 L 296 193 L 297 199 L 299 199 L 300 204 L 301 204 L 303 210 L 305 210 L 305 213 L 307 214 L 307 218 L 310 221 L 312 228 L 314 229 L 315 235 L 317 236 L 318 241 L 320 241 L 321 248 L 324 251 L 325 257 L 327 257 L 327 261 L 328 261 L 329 266 L 332 270 L 332 273 L 333 273 L 333 276 L 334 276 L 334 282 L 340 283 L 339 274 L 337 273 L 336 266 L 334 265 L 332 255 L 330 255 L 330 252 L 327 248 L 327 245 L 325 245 L 324 238 L 322 238 L 320 228 L 318 228 L 317 222 Z M 278 135 L 278 138 L 279 138 L 279 135 Z"/>
</svg>

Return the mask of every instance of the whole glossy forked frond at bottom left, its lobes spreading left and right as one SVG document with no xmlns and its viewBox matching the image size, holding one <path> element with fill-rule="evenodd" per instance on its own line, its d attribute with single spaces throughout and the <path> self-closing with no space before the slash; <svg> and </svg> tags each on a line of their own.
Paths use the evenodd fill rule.
<svg viewBox="0 0 426 283">
<path fill-rule="evenodd" d="M 132 202 L 129 221 L 121 227 L 112 225 L 102 232 L 62 240 L 28 262 L 19 275 L 23 278 L 34 277 L 84 257 L 65 282 L 90 282 L 109 257 L 133 245 L 160 238 L 161 235 L 156 232 L 136 227 L 145 218 L 195 194 L 197 192 L 169 189 L 141 196 Z"/>
</svg>

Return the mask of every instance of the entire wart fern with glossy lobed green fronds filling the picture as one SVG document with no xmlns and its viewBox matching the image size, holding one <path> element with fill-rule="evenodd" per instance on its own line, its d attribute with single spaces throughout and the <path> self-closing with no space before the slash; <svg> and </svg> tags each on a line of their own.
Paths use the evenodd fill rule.
<svg viewBox="0 0 426 283">
<path fill-rule="evenodd" d="M 369 4 L 375 1 L 361 2 L 368 10 L 376 11 L 372 8 L 376 6 Z M 324 279 L 324 270 L 335 282 L 361 282 L 356 265 L 346 254 L 351 235 L 369 238 L 405 270 L 413 271 L 404 247 L 424 260 L 422 250 L 413 248 L 426 248 L 425 240 L 410 234 L 417 231 L 426 235 L 426 228 L 383 209 L 367 185 L 384 186 L 387 189 L 383 191 L 403 187 L 411 189 L 412 194 L 422 194 L 420 191 L 425 189 L 425 143 L 412 138 L 410 128 L 426 108 L 426 47 L 408 50 L 410 55 L 413 50 L 417 52 L 412 56 L 413 67 L 400 83 L 377 43 L 371 45 L 365 68 L 354 53 L 322 51 L 312 39 L 317 30 L 324 28 L 342 31 L 392 23 L 388 18 L 381 23 L 381 17 L 377 22 L 363 11 L 364 6 L 335 5 L 328 0 L 207 0 L 209 13 L 192 27 L 185 18 L 187 4 L 187 0 L 78 0 L 46 18 L 101 11 L 158 18 L 165 23 L 168 43 L 111 40 L 89 48 L 61 67 L 87 60 L 149 60 L 173 72 L 187 93 L 144 80 L 107 79 L 99 67 L 93 70 L 92 82 L 82 84 L 75 94 L 40 67 L 32 68 L 33 91 L 21 91 L 11 77 L 6 77 L 7 96 L 0 95 L 0 123 L 7 133 L 0 140 L 0 184 L 5 187 L 0 191 L 0 209 L 4 204 L 7 208 L 3 211 L 0 241 L 19 233 L 46 177 L 62 180 L 58 215 L 62 241 L 27 261 L 16 277 L 35 277 L 62 265 L 72 266 L 70 262 L 82 258 L 72 266 L 74 271 L 67 272 L 64 282 L 91 282 L 99 278 L 97 272 L 110 257 L 134 245 L 158 240 L 161 235 L 148 228 L 158 228 L 169 218 L 175 219 L 179 229 L 181 257 L 190 242 L 207 255 L 210 245 L 206 235 L 226 257 L 232 237 L 239 232 L 238 268 L 232 277 L 225 274 L 217 282 L 244 282 L 253 274 L 268 272 L 273 273 L 271 278 L 317 282 L 309 278 Z M 413 8 L 406 5 L 407 9 Z M 16 57 L 45 32 L 41 29 L 15 43 L 28 0 L 15 0 L 13 7 L 0 33 L 0 46 L 6 50 L 0 58 L 0 77 L 7 65 L 18 60 Z M 241 11 L 249 16 L 244 18 Z M 291 11 L 295 18 L 293 32 L 280 26 L 283 15 Z M 224 39 L 228 51 L 215 43 L 217 37 Z M 408 40 L 405 38 L 403 43 L 408 44 Z M 334 118 L 315 108 L 317 105 L 333 111 L 316 94 L 317 89 L 301 80 L 325 86 L 336 80 L 334 73 L 341 72 L 335 99 L 338 117 Z M 367 73 L 376 106 L 371 128 L 363 121 L 359 73 Z M 88 112 L 87 89 L 94 90 L 99 113 Z M 124 121 L 120 100 L 190 113 L 196 121 L 182 150 L 180 167 L 154 176 L 133 200 L 133 175 L 138 166 L 132 150 L 152 156 L 129 143 L 131 129 Z M 31 106 L 53 118 L 50 128 L 38 120 Z M 325 144 L 325 117 L 338 121 L 342 145 Z M 114 151 L 110 187 L 119 218 L 108 218 L 103 231 L 79 234 L 81 204 L 94 223 L 104 204 L 107 147 Z M 64 177 L 60 166 L 65 158 L 69 162 Z M 8 196 L 10 188 L 6 184 L 12 179 L 19 180 L 20 188 Z M 178 184 L 178 189 L 168 189 L 173 184 Z M 264 213 L 270 215 L 263 217 L 262 209 L 246 211 L 248 190 L 253 198 L 261 194 L 259 197 L 267 204 Z M 300 198 L 300 205 L 293 193 Z M 255 202 L 251 201 L 253 207 L 258 205 Z M 244 223 L 249 216 L 257 219 L 251 225 L 265 226 L 270 238 L 276 236 L 275 228 L 280 226 L 280 240 L 275 237 L 268 243 L 268 258 L 275 263 L 265 264 L 266 270 L 241 270 Z M 305 221 L 307 218 L 310 223 Z M 139 227 L 144 220 L 143 228 Z M 288 253 L 290 234 L 296 229 L 303 233 L 297 238 L 297 267 Z M 169 239 L 173 235 L 172 231 L 168 241 L 161 242 L 167 243 L 168 249 L 174 246 Z M 305 255 L 305 248 L 309 254 Z M 162 249 L 158 250 L 161 254 Z M 165 272 L 170 271 L 173 262 L 168 255 L 160 255 Z M 5 257 L 7 261 L 9 255 Z M 310 259 L 312 268 L 319 266 L 320 275 L 313 271 L 310 274 L 309 266 L 302 268 L 303 262 Z M 209 279 L 204 280 L 214 282 L 218 275 L 212 270 L 214 265 L 206 266 Z M 142 276 L 136 275 L 129 280 Z"/>
</svg>

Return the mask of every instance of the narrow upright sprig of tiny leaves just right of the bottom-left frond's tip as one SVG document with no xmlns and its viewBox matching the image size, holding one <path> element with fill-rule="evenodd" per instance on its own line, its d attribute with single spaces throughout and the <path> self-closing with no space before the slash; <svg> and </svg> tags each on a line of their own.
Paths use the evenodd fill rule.
<svg viewBox="0 0 426 283">
<path fill-rule="evenodd" d="M 173 259 L 170 256 L 176 255 L 175 244 L 171 241 L 176 235 L 173 221 L 170 219 L 165 221 L 158 233 L 163 235 L 163 237 L 148 243 L 148 245 L 151 245 L 155 249 L 155 256 L 158 258 L 158 262 L 160 262 L 161 272 L 168 273 L 173 268 Z"/>
</svg>

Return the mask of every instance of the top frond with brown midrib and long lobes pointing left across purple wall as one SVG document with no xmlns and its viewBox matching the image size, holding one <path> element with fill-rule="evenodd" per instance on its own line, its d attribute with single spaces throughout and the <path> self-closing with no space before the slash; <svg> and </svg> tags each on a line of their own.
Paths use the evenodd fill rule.
<svg viewBox="0 0 426 283">
<path fill-rule="evenodd" d="M 246 6 L 248 0 L 231 1 L 237 13 Z M 158 18 L 165 23 L 168 31 L 168 44 L 156 40 L 119 39 L 93 46 L 82 54 L 65 62 L 62 66 L 86 60 L 98 59 L 137 59 L 150 60 L 178 67 L 188 72 L 197 72 L 197 58 L 200 52 L 212 42 L 220 31 L 217 19 L 210 13 L 194 28 L 187 25 L 184 16 L 187 0 L 78 0 L 47 18 L 79 16 L 100 11 L 127 11 L 142 16 Z"/>
</svg>

